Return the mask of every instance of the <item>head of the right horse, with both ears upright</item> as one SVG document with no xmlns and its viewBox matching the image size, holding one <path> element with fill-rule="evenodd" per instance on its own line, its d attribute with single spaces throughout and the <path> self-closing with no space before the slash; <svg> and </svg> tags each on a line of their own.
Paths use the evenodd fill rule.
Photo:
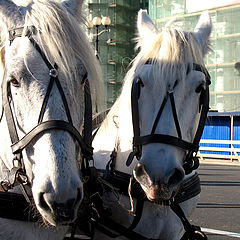
<svg viewBox="0 0 240 240">
<path fill-rule="evenodd" d="M 133 141 L 140 150 L 133 173 L 149 200 L 169 200 L 185 177 L 186 158 L 197 152 L 202 93 L 210 82 L 203 57 L 211 20 L 204 12 L 194 32 L 171 26 L 158 31 L 146 11 L 140 11 L 138 31 L 132 111 L 133 119 L 137 115 Z"/>
</svg>

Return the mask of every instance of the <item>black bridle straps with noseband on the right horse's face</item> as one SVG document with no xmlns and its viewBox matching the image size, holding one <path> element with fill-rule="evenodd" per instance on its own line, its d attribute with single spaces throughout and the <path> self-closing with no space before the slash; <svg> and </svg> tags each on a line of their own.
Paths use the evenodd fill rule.
<svg viewBox="0 0 240 240">
<path fill-rule="evenodd" d="M 149 61 L 148 61 L 149 62 Z M 147 62 L 147 63 L 148 63 Z M 207 113 L 209 110 L 209 85 L 211 83 L 210 81 L 210 75 L 207 71 L 207 69 L 199 64 L 193 64 L 193 70 L 200 71 L 204 73 L 206 78 L 206 89 L 203 89 L 200 95 L 200 108 L 201 108 L 201 115 L 200 120 L 198 123 L 198 128 L 195 134 L 195 137 L 193 139 L 193 142 L 187 142 L 182 139 L 182 133 L 181 128 L 177 116 L 176 111 L 176 104 L 174 99 L 174 87 L 172 91 L 168 91 L 163 99 L 163 102 L 159 108 L 158 114 L 155 118 L 155 121 L 152 126 L 151 133 L 149 135 L 140 136 L 140 124 L 139 124 L 139 107 L 138 107 L 138 99 L 141 92 L 141 85 L 143 84 L 140 77 L 136 77 L 133 80 L 132 83 L 132 90 L 131 90 L 131 106 L 132 106 L 132 122 L 133 122 L 133 151 L 130 153 L 126 165 L 129 166 L 134 158 L 139 160 L 142 154 L 142 146 L 147 145 L 150 143 L 164 143 L 168 145 L 172 145 L 178 148 L 183 149 L 184 151 L 187 151 L 187 155 L 184 161 L 184 169 L 186 174 L 192 172 L 192 170 L 196 169 L 199 165 L 198 158 L 196 157 L 196 154 L 199 149 L 199 141 L 202 136 L 202 132 L 204 129 L 205 121 L 207 118 Z M 164 110 L 164 107 L 170 98 L 171 103 L 171 109 L 174 119 L 174 124 L 177 130 L 178 136 L 170 136 L 165 134 L 156 134 L 156 128 L 158 125 L 158 122 L 160 120 L 160 117 L 162 116 L 162 112 Z"/>
</svg>

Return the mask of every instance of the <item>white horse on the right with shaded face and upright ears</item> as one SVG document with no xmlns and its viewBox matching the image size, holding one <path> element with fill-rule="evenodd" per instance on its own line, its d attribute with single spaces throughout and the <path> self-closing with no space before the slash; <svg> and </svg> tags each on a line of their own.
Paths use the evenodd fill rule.
<svg viewBox="0 0 240 240">
<path fill-rule="evenodd" d="M 125 77 L 120 97 L 94 138 L 95 166 L 102 171 L 110 166 L 111 171 L 112 164 L 113 174 L 114 171 L 133 174 L 141 185 L 148 201 L 144 202 L 142 217 L 134 228 L 136 233 L 146 239 L 179 240 L 183 235 L 180 219 L 169 206 L 155 202 L 172 199 L 179 186 L 193 176 L 194 172 L 185 175 L 183 168 L 190 150 L 171 143 L 171 140 L 142 142 L 151 132 L 154 136 L 173 136 L 174 139 L 188 143 L 194 141 L 201 115 L 201 91 L 208 84 L 206 74 L 195 69 L 194 65 L 197 63 L 203 66 L 203 57 L 209 48 L 211 19 L 207 12 L 203 13 L 194 32 L 184 32 L 171 26 L 159 31 L 146 11 L 141 10 L 137 27 L 140 52 Z M 137 127 L 139 135 L 144 137 L 138 139 L 138 144 L 142 145 L 140 152 L 137 152 L 140 154 L 139 161 L 134 158 L 127 167 L 126 160 L 133 144 L 131 86 L 136 82 L 138 86 L 135 90 L 138 90 L 135 102 L 138 103 L 139 112 Z M 113 149 L 116 160 L 109 162 Z M 118 199 L 117 189 L 113 192 L 115 194 L 112 191 L 103 194 L 104 206 L 112 209 L 111 219 L 127 228 L 134 219 L 125 209 L 131 208 L 129 197 L 119 193 Z M 180 204 L 187 217 L 194 211 L 198 199 L 199 194 Z M 134 204 L 135 201 L 134 198 Z M 95 239 L 106 240 L 111 237 L 97 231 Z"/>
</svg>

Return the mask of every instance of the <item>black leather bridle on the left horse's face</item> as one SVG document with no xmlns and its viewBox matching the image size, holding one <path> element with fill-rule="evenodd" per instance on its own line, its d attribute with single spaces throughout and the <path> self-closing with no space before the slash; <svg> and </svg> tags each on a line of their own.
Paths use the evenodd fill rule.
<svg viewBox="0 0 240 240">
<path fill-rule="evenodd" d="M 9 31 L 10 44 L 14 41 L 15 38 L 22 36 L 23 29 L 24 28 L 17 28 Z M 87 79 L 87 73 L 84 75 L 82 80 L 82 84 L 84 84 L 84 99 L 85 99 L 84 130 L 83 130 L 83 136 L 82 136 L 80 132 L 73 125 L 67 99 L 58 78 L 58 71 L 57 71 L 58 67 L 56 64 L 52 66 L 52 64 L 48 61 L 47 57 L 45 56 L 45 54 L 43 53 L 39 45 L 33 39 L 32 35 L 35 35 L 36 33 L 37 31 L 34 27 L 28 27 L 25 36 L 29 38 L 30 42 L 35 47 L 35 49 L 39 52 L 43 61 L 47 65 L 49 69 L 50 81 L 49 81 L 47 92 L 44 97 L 42 107 L 39 113 L 37 126 L 34 127 L 28 133 L 26 133 L 26 135 L 21 139 L 19 139 L 16 123 L 14 120 L 14 115 L 13 115 L 12 106 L 11 106 L 12 105 L 11 102 L 13 101 L 13 98 L 11 94 L 10 82 L 7 81 L 6 79 L 6 75 L 7 75 L 6 72 L 3 79 L 3 85 L 2 85 L 3 108 L 4 108 L 6 120 L 7 120 L 9 135 L 12 142 L 12 146 L 11 146 L 12 153 L 14 154 L 13 168 L 11 169 L 11 172 L 10 172 L 9 182 L 1 183 L 3 190 L 6 190 L 6 191 L 14 187 L 16 184 L 21 184 L 23 182 L 23 179 L 24 179 L 24 184 L 29 184 L 26 176 L 26 170 L 25 170 L 23 158 L 22 158 L 22 151 L 24 150 L 24 148 L 26 148 L 29 145 L 29 143 L 31 143 L 33 139 L 35 139 L 39 134 L 45 131 L 54 129 L 54 130 L 63 130 L 70 133 L 71 136 L 80 145 L 83 159 L 84 161 L 86 161 L 86 163 L 83 164 L 84 166 L 88 166 L 88 161 L 92 159 L 92 155 L 93 155 L 92 104 L 91 104 L 90 87 Z M 68 121 L 63 121 L 63 120 L 43 121 L 44 113 L 45 113 L 54 83 L 57 86 L 57 89 L 63 101 L 63 105 L 65 108 Z"/>
</svg>

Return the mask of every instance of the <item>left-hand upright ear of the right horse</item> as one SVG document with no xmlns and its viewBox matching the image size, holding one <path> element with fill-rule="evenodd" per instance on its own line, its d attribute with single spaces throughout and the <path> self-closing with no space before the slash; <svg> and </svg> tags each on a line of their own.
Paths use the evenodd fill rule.
<svg viewBox="0 0 240 240">
<path fill-rule="evenodd" d="M 149 42 L 159 33 L 153 21 L 148 16 L 147 10 L 142 9 L 138 12 L 137 29 L 138 35 L 143 42 Z"/>
</svg>

